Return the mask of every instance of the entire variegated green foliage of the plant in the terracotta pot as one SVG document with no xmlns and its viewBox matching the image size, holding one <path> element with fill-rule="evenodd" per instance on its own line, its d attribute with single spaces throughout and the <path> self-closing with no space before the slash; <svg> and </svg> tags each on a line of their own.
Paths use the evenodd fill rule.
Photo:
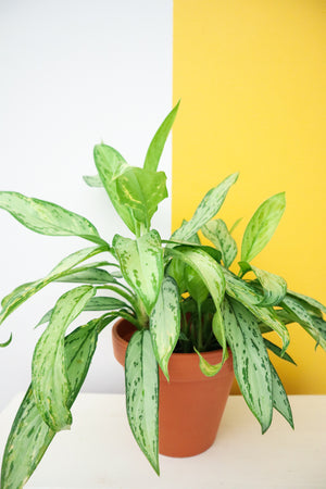
<svg viewBox="0 0 326 489">
<path fill-rule="evenodd" d="M 151 228 L 151 218 L 167 196 L 166 176 L 158 172 L 158 164 L 177 110 L 178 104 L 154 135 L 143 167 L 129 166 L 109 146 L 95 147 L 98 174 L 85 180 L 89 186 L 104 187 L 134 239 L 115 235 L 108 243 L 78 214 L 21 193 L 0 192 L 0 208 L 27 228 L 43 235 L 78 236 L 92 243 L 63 259 L 45 278 L 21 285 L 1 302 L 2 323 L 48 284 L 74 284 L 39 322 L 47 326 L 36 344 L 32 384 L 5 447 L 3 489 L 22 487 L 55 432 L 72 424 L 71 408 L 87 375 L 98 336 L 117 317 L 123 322 L 114 326 L 114 337 L 122 348 L 114 348 L 121 362 L 126 349 L 128 421 L 158 474 L 159 378 L 161 387 L 165 383 L 168 390 L 173 383 L 172 364 L 178 369 L 189 355 L 197 359 L 195 369 L 200 380 L 218 379 L 227 371 L 225 396 L 234 375 L 233 362 L 243 398 L 263 432 L 271 425 L 273 409 L 293 426 L 286 391 L 267 351 L 293 362 L 286 352 L 287 324 L 292 322 L 299 323 L 325 350 L 326 323 L 324 305 L 288 290 L 281 277 L 251 263 L 278 225 L 285 195 L 265 200 L 249 221 L 237 274 L 229 269 L 237 255 L 231 236 L 237 223 L 228 229 L 215 215 L 238 174 L 211 189 L 191 220 L 184 222 L 170 239 L 162 239 Z M 199 231 L 210 244 L 201 242 Z M 70 324 L 83 311 L 101 313 L 66 335 Z M 281 348 L 264 337 L 272 330 L 278 334 Z M 120 336 L 122 331 L 127 336 Z M 7 347 L 10 341 L 11 338 L 1 346 Z M 187 417 L 188 412 L 183 416 Z"/>
</svg>

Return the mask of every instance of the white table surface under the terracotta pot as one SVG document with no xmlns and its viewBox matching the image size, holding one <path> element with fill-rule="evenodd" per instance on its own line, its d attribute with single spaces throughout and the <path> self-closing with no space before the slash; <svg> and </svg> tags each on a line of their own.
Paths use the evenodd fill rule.
<svg viewBox="0 0 326 489">
<path fill-rule="evenodd" d="M 22 396 L 0 414 L 3 452 Z M 230 397 L 213 447 L 188 457 L 160 455 L 158 477 L 133 439 L 122 394 L 80 394 L 71 431 L 57 435 L 26 488 L 314 489 L 326 488 L 326 396 L 291 396 L 296 429 L 275 412 L 260 426 Z"/>
</svg>

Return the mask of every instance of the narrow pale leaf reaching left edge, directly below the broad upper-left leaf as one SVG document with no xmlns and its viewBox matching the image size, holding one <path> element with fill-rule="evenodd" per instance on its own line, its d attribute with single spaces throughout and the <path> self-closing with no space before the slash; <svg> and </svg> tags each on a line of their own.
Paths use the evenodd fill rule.
<svg viewBox="0 0 326 489">
<path fill-rule="evenodd" d="M 62 278 L 71 273 L 71 269 L 78 265 L 78 263 L 88 260 L 96 254 L 106 251 L 108 247 L 90 247 L 76 251 L 63 259 L 45 278 L 36 281 L 29 281 L 15 288 L 10 294 L 2 299 L 2 311 L 0 312 L 0 324 L 8 317 L 15 309 L 23 304 L 27 299 L 41 290 L 48 284 Z"/>
</svg>

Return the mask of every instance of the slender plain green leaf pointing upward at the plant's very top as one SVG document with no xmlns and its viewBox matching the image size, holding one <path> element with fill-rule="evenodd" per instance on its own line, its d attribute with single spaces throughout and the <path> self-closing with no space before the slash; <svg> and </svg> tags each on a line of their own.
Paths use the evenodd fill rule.
<svg viewBox="0 0 326 489">
<path fill-rule="evenodd" d="M 172 111 L 164 118 L 163 123 L 156 130 L 151 143 L 147 150 L 145 158 L 143 168 L 155 172 L 161 159 L 162 151 L 164 149 L 167 136 L 173 126 L 174 120 L 176 117 L 180 101 L 172 109 Z"/>
</svg>

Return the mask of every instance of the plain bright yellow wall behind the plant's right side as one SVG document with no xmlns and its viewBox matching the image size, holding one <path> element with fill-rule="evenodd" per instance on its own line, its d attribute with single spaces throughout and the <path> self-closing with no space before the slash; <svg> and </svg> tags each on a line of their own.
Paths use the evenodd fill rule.
<svg viewBox="0 0 326 489">
<path fill-rule="evenodd" d="M 314 0 L 175 0 L 173 229 L 233 172 L 220 216 L 240 243 L 258 205 L 287 210 L 256 266 L 326 303 L 325 11 Z M 288 393 L 326 393 L 326 354 L 298 325 L 273 362 Z M 234 388 L 234 392 L 237 388 Z"/>
</svg>

